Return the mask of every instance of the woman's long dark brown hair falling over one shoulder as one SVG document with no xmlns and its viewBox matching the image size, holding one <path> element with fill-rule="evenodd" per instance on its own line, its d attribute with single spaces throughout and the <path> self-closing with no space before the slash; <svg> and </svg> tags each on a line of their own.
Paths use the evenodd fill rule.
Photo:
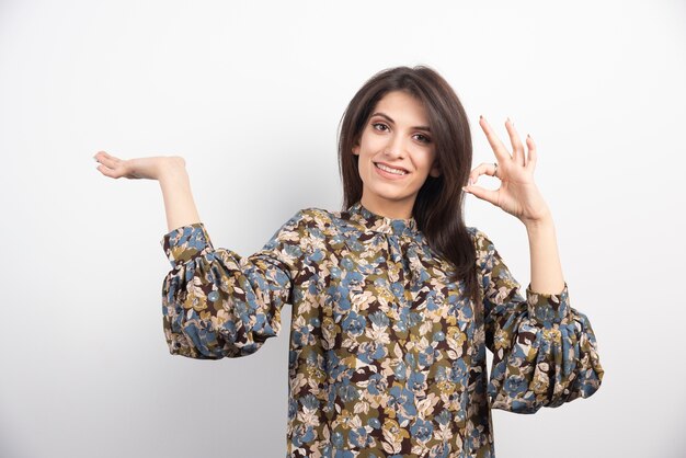
<svg viewBox="0 0 686 458">
<path fill-rule="evenodd" d="M 391 91 L 405 91 L 423 103 L 441 170 L 439 176 L 426 178 L 414 202 L 412 216 L 430 247 L 455 266 L 450 280 L 464 279 L 467 294 L 478 304 L 475 245 L 465 225 L 462 208 L 462 186 L 471 170 L 471 133 L 457 94 L 435 70 L 425 66 L 381 70 L 351 100 L 339 129 L 343 209 L 362 198 L 363 182 L 353 147 L 359 141 L 377 103 Z"/>
</svg>

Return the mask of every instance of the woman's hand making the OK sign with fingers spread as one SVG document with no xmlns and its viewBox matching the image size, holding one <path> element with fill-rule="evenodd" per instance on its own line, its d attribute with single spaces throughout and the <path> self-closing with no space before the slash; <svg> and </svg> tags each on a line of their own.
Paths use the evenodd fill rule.
<svg viewBox="0 0 686 458">
<path fill-rule="evenodd" d="M 534 183 L 537 156 L 536 145 L 534 145 L 531 137 L 527 136 L 526 138 L 528 147 L 528 154 L 526 154 L 514 124 L 507 118 L 505 127 L 512 142 L 513 153 L 511 154 L 484 117 L 480 118 L 479 125 L 481 125 L 491 148 L 493 148 L 498 167 L 494 163 L 481 163 L 469 173 L 469 183 L 464 190 L 502 208 L 525 225 L 549 218 L 548 205 Z M 501 181 L 501 186 L 498 190 L 476 186 L 477 180 L 483 174 L 498 178 Z"/>
</svg>

